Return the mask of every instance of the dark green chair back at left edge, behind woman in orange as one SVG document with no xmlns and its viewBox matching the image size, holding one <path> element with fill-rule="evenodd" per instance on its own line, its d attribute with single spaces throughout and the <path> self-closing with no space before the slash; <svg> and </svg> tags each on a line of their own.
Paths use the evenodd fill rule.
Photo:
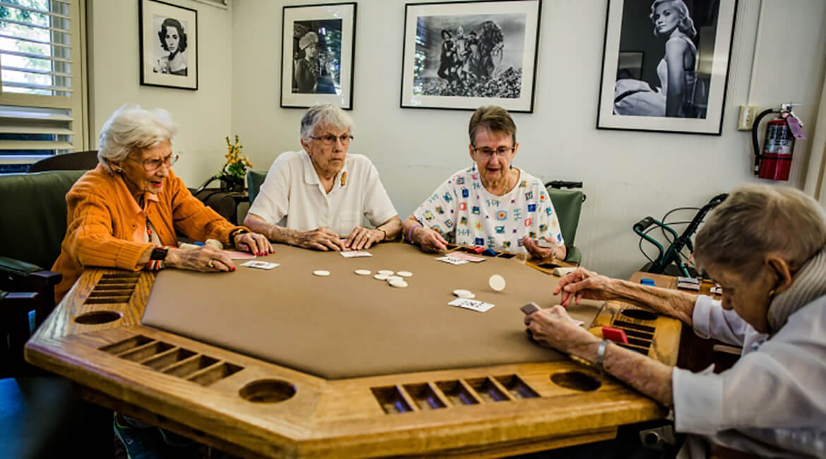
<svg viewBox="0 0 826 459">
<path fill-rule="evenodd" d="M 51 269 L 66 235 L 66 193 L 83 173 L 0 175 L 0 256 Z"/>
</svg>

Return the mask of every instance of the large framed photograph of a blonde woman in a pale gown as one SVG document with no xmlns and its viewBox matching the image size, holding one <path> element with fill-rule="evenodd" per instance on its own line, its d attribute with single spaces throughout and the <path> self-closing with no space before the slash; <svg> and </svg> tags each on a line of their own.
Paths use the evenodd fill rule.
<svg viewBox="0 0 826 459">
<path fill-rule="evenodd" d="M 596 127 L 720 135 L 737 0 L 609 0 Z"/>
</svg>

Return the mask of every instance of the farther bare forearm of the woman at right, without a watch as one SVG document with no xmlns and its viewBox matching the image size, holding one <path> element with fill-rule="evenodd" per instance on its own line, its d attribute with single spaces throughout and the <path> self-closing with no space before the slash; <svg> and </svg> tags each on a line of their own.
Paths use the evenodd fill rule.
<svg viewBox="0 0 826 459">
<path fill-rule="evenodd" d="M 648 307 L 664 315 L 670 315 L 682 322 L 693 325 L 694 304 L 697 296 L 685 291 L 669 290 L 654 286 L 643 286 L 629 281 L 612 281 L 610 299 L 622 300 L 634 305 Z"/>
</svg>

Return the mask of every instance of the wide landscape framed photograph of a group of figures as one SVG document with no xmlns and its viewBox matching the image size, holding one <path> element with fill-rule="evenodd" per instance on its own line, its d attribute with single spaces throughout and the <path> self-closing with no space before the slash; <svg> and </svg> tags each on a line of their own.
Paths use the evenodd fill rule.
<svg viewBox="0 0 826 459">
<path fill-rule="evenodd" d="M 541 0 L 407 3 L 401 106 L 534 111 Z"/>
</svg>

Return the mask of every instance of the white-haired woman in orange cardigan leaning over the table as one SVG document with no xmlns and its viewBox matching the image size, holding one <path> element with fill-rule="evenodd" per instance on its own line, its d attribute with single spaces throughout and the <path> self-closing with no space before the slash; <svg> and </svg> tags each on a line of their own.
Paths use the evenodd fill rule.
<svg viewBox="0 0 826 459">
<path fill-rule="evenodd" d="M 267 238 L 230 224 L 175 176 L 176 132 L 169 111 L 131 104 L 121 106 L 103 125 L 97 168 L 66 195 L 68 228 L 52 267 L 63 274 L 55 288 L 58 301 L 84 267 L 235 271 L 230 257 L 210 245 L 178 248 L 175 230 L 193 240 L 217 239 L 250 253 L 273 252 Z"/>
</svg>

